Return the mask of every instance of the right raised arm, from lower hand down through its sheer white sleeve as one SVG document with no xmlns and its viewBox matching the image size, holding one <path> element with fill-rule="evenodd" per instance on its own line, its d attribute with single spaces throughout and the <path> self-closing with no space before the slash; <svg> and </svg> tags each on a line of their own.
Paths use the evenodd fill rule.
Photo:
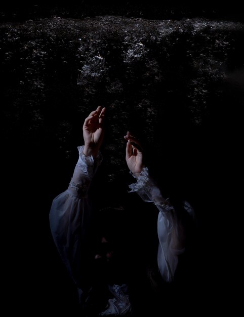
<svg viewBox="0 0 244 317">
<path fill-rule="evenodd" d="M 137 182 L 129 185 L 131 192 L 136 191 L 145 202 L 152 202 L 159 210 L 158 232 L 158 268 L 162 278 L 171 282 L 178 264 L 178 255 L 184 252 L 184 230 L 177 219 L 174 207 L 162 197 L 159 188 L 150 177 L 143 163 L 143 152 L 139 141 L 130 132 L 127 140 L 126 162 Z"/>
</svg>

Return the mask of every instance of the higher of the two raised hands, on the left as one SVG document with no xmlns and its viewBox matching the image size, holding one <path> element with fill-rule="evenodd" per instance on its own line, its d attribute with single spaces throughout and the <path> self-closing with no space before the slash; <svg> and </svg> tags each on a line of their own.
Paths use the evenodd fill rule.
<svg viewBox="0 0 244 317">
<path fill-rule="evenodd" d="M 88 156 L 97 156 L 104 137 L 104 115 L 105 108 L 97 107 L 86 118 L 83 125 L 83 137 L 85 141 L 83 153 Z"/>
</svg>

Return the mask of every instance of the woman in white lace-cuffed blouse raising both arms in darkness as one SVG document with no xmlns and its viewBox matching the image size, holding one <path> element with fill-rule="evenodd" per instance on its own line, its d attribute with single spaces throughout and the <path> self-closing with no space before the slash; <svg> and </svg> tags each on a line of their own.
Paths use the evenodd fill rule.
<svg viewBox="0 0 244 317">
<path fill-rule="evenodd" d="M 50 226 L 56 247 L 77 286 L 80 303 L 86 313 L 129 315 L 128 270 L 123 260 L 126 248 L 123 248 L 123 239 L 117 239 L 119 235 L 121 237 L 120 231 L 111 230 L 112 227 L 117 228 L 112 215 L 123 214 L 123 209 L 110 210 L 111 217 L 107 210 L 106 216 L 103 218 L 104 213 L 102 217 L 100 214 L 97 220 L 88 196 L 93 176 L 102 162 L 100 147 L 104 138 L 104 117 L 105 108 L 99 106 L 84 122 L 85 145 L 78 147 L 79 159 L 68 189 L 53 200 Z M 151 179 L 139 141 L 130 132 L 124 138 L 127 141 L 126 162 L 137 180 L 129 187 L 131 192 L 137 192 L 143 201 L 153 203 L 159 210 L 157 264 L 162 280 L 172 282 L 179 255 L 185 249 L 184 227 L 174 207 L 162 197 Z M 184 204 L 184 208 L 192 213 L 188 203 Z M 115 218 L 122 219 L 123 215 Z M 118 223 L 121 224 L 120 221 Z M 125 226 L 126 222 L 122 226 L 124 230 Z"/>
</svg>

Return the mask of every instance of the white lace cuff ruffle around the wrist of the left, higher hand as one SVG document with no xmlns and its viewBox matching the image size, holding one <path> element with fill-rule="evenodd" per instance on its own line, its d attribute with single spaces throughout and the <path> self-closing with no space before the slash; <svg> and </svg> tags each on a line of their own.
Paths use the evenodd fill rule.
<svg viewBox="0 0 244 317">
<path fill-rule="evenodd" d="M 92 178 L 93 175 L 96 173 L 97 168 L 102 163 L 102 153 L 98 151 L 97 157 L 94 160 L 92 155 L 86 156 L 85 154 L 83 154 L 84 145 L 78 146 L 77 149 L 79 151 L 79 160 L 77 163 L 78 168 L 80 169 L 80 171 Z"/>
</svg>

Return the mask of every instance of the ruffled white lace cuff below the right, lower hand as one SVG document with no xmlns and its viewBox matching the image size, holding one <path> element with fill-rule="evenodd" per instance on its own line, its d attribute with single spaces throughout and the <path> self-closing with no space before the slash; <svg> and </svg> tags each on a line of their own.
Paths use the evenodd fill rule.
<svg viewBox="0 0 244 317">
<path fill-rule="evenodd" d="M 136 191 L 144 202 L 154 203 L 161 212 L 174 210 L 169 199 L 162 197 L 159 188 L 150 178 L 147 167 L 143 168 L 137 182 L 129 185 L 129 187 L 131 188 L 130 192 Z"/>
</svg>

